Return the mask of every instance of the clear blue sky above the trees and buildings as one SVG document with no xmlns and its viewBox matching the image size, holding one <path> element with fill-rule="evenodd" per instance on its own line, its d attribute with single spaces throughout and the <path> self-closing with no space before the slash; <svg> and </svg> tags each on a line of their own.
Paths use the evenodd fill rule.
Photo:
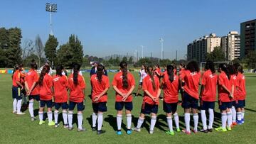
<svg viewBox="0 0 256 144">
<path fill-rule="evenodd" d="M 186 55 L 192 40 L 216 33 L 239 31 L 240 23 L 256 18 L 256 1 L 240 0 L 3 0 L 0 27 L 19 27 L 23 40 L 39 34 L 46 42 L 50 14 L 46 2 L 58 4 L 53 31 L 60 45 L 70 34 L 78 35 L 85 55 L 134 55 L 144 45 L 144 56 L 161 57 L 159 38 L 164 38 L 164 57 Z"/>
</svg>

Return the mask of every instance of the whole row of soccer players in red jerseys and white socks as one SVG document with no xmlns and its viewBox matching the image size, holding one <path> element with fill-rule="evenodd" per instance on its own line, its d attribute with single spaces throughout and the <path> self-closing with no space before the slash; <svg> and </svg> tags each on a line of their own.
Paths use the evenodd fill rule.
<svg viewBox="0 0 256 144">
<path fill-rule="evenodd" d="M 169 135 L 174 135 L 172 118 L 176 124 L 176 131 L 179 128 L 177 113 L 178 92 L 181 90 L 182 107 L 184 109 L 184 119 L 186 128 L 183 133 L 191 134 L 190 119 L 193 113 L 193 133 L 198 132 L 198 102 L 201 106 L 201 119 L 204 133 L 213 131 L 214 107 L 216 99 L 216 89 L 218 87 L 218 104 L 221 112 L 221 123 L 216 131 L 231 131 L 231 127 L 244 123 L 245 114 L 245 76 L 242 74 L 242 66 L 239 64 L 225 65 L 220 64 L 216 74 L 213 62 L 206 62 L 205 72 L 201 74 L 198 64 L 195 61 L 188 62 L 188 65 L 180 65 L 177 74 L 176 67 L 167 65 L 165 71 L 161 72 L 158 66 L 143 66 L 144 75 L 140 79 L 141 87 L 144 91 L 142 109 L 139 114 L 137 126 L 132 128 L 132 92 L 135 87 L 135 80 L 132 73 L 127 70 L 127 63 L 121 62 L 120 71 L 114 75 L 112 87 L 115 91 L 115 109 L 117 110 L 117 135 L 122 135 L 122 113 L 125 109 L 127 118 L 127 131 L 129 135 L 132 131 L 141 131 L 145 115 L 151 115 L 149 133 L 154 133 L 156 124 L 156 114 L 158 113 L 159 97 L 161 89 L 164 91 L 163 106 L 166 112 L 166 119 L 169 126 Z M 39 125 L 43 121 L 44 108 L 47 106 L 48 126 L 58 127 L 59 109 L 62 109 L 64 128 L 73 130 L 73 110 L 78 109 L 78 131 L 85 131 L 82 127 L 82 111 L 85 109 L 85 80 L 80 74 L 80 65 L 73 65 L 73 72 L 69 77 L 63 73 L 64 67 L 56 67 L 56 74 L 50 76 L 50 67 L 43 66 L 38 76 L 36 61 L 31 61 L 31 70 L 23 74 L 21 65 L 16 65 L 13 79 L 13 113 L 24 114 L 21 112 L 21 90 L 26 90 L 29 99 L 28 111 L 31 121 L 35 120 L 33 111 L 33 101 L 39 101 L 38 111 Z M 110 89 L 109 78 L 105 75 L 105 67 L 97 65 L 96 73 L 90 77 L 92 87 L 92 131 L 97 134 L 105 133 L 102 131 L 103 113 L 107 111 L 107 91 Z M 23 80 L 22 80 L 23 79 Z M 201 92 L 198 93 L 201 85 Z M 68 91 L 69 96 L 68 96 Z M 52 106 L 54 101 L 54 121 Z M 206 111 L 209 113 L 208 126 Z M 237 120 L 236 120 L 237 118 Z M 97 123 L 97 127 L 96 127 Z M 228 125 L 227 125 L 228 123 Z"/>
</svg>

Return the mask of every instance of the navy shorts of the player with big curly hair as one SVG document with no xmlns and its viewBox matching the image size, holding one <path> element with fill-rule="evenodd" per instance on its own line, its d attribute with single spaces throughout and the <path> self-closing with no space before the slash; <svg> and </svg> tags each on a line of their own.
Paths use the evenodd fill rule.
<svg viewBox="0 0 256 144">
<path fill-rule="evenodd" d="M 198 109 L 198 99 L 195 99 L 193 96 L 190 96 L 188 93 L 183 93 L 182 105 L 184 109 Z"/>
</svg>

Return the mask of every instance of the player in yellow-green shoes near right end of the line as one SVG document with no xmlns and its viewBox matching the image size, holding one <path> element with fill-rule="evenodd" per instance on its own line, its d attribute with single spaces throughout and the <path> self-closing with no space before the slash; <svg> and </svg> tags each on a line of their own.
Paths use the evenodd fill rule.
<svg viewBox="0 0 256 144">
<path fill-rule="evenodd" d="M 231 100 L 233 99 L 234 92 L 233 80 L 230 78 L 228 65 L 220 64 L 218 72 L 220 72 L 218 77 L 218 101 L 222 125 L 219 128 L 215 128 L 215 130 L 225 132 L 228 129 L 228 131 L 231 131 L 232 113 L 230 109 L 232 107 Z M 228 126 L 226 126 L 227 121 Z"/>
</svg>

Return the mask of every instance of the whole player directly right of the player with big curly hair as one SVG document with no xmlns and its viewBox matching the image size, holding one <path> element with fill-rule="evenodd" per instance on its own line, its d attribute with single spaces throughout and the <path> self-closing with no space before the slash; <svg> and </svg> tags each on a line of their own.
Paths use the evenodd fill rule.
<svg viewBox="0 0 256 144">
<path fill-rule="evenodd" d="M 213 131 L 214 107 L 216 100 L 218 75 L 215 74 L 213 61 L 207 61 L 205 72 L 203 73 L 200 92 L 201 119 L 203 129 L 201 132 L 208 133 Z M 207 127 L 206 111 L 209 113 L 209 124 Z"/>
</svg>

